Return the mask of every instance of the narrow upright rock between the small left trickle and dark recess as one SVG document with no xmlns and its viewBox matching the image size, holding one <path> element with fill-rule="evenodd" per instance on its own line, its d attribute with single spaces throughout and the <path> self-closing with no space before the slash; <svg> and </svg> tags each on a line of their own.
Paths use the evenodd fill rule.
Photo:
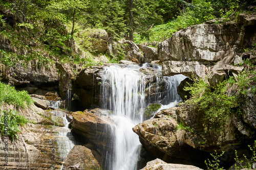
<svg viewBox="0 0 256 170">
<path fill-rule="evenodd" d="M 62 99 L 66 99 L 67 90 L 70 89 L 71 78 L 73 77 L 73 69 L 66 63 L 56 62 L 59 69 L 59 94 Z"/>
</svg>

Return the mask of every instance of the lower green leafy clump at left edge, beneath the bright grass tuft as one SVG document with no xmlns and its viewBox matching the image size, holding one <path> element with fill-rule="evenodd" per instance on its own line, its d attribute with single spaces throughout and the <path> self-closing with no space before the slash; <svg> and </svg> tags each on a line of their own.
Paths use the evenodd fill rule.
<svg viewBox="0 0 256 170">
<path fill-rule="evenodd" d="M 20 132 L 19 126 L 24 126 L 29 123 L 29 120 L 20 115 L 15 110 L 0 110 L 1 122 L 0 131 L 2 135 L 7 135 L 12 140 L 18 139 L 18 133 Z M 7 128 L 7 129 L 6 129 Z M 7 131 L 6 131 L 7 130 Z"/>
</svg>

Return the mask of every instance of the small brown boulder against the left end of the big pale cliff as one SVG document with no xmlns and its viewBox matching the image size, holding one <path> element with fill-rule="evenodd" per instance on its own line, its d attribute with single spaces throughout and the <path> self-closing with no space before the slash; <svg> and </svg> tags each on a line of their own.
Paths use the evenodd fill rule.
<svg viewBox="0 0 256 170">
<path fill-rule="evenodd" d="M 151 63 L 151 61 L 158 60 L 157 48 L 140 44 L 138 44 L 138 47 L 144 56 L 142 63 Z"/>
</svg>

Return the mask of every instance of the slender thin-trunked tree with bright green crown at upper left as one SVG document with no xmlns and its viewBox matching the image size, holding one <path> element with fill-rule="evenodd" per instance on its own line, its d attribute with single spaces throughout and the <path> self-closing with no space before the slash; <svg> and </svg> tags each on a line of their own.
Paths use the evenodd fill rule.
<svg viewBox="0 0 256 170">
<path fill-rule="evenodd" d="M 86 10 L 90 0 L 63 0 L 63 1 L 53 1 L 48 9 L 56 10 L 57 12 L 68 11 L 72 13 L 72 31 L 71 31 L 71 47 L 70 54 L 73 54 L 74 45 L 74 28 L 75 28 L 75 17 L 80 10 Z"/>
</svg>

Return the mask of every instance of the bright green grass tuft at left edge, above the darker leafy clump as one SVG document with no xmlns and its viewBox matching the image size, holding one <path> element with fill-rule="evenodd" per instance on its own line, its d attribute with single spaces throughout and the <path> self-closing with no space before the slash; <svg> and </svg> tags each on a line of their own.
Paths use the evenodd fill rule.
<svg viewBox="0 0 256 170">
<path fill-rule="evenodd" d="M 33 104 L 33 100 L 27 91 L 16 91 L 14 87 L 0 82 L 0 104 L 4 103 L 25 109 Z"/>
</svg>

